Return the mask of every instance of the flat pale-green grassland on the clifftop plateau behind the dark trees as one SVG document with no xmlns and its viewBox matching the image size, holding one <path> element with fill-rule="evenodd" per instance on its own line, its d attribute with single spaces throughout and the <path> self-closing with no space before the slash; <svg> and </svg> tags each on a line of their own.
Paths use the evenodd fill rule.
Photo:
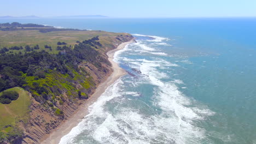
<svg viewBox="0 0 256 144">
<path fill-rule="evenodd" d="M 38 30 L 33 31 L 0 31 L 0 49 L 3 47 L 11 47 L 11 46 L 23 46 L 26 45 L 35 46 L 39 45 L 40 50 L 49 51 L 50 53 L 56 53 L 56 47 L 58 41 L 64 41 L 67 45 L 75 45 L 76 41 L 83 41 L 91 39 L 99 35 L 103 37 L 102 40 L 106 37 L 116 37 L 117 35 L 121 35 L 124 33 L 110 33 L 104 31 L 59 31 L 59 32 L 48 32 L 48 33 L 40 33 Z M 100 43 L 104 43 L 104 41 L 100 41 Z M 44 45 L 49 45 L 53 49 L 50 51 L 49 49 L 45 49 Z M 63 45 L 61 45 L 63 46 Z M 15 52 L 25 52 L 23 50 L 10 50 Z M 9 52 L 10 52 L 9 51 Z"/>
</svg>

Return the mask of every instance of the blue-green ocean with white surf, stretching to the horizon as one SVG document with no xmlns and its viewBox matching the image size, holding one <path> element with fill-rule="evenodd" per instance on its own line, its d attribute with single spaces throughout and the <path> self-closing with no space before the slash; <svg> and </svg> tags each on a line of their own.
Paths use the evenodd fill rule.
<svg viewBox="0 0 256 144">
<path fill-rule="evenodd" d="M 256 143 L 256 18 L 0 19 L 131 33 L 129 74 L 60 143 Z"/>
</svg>

